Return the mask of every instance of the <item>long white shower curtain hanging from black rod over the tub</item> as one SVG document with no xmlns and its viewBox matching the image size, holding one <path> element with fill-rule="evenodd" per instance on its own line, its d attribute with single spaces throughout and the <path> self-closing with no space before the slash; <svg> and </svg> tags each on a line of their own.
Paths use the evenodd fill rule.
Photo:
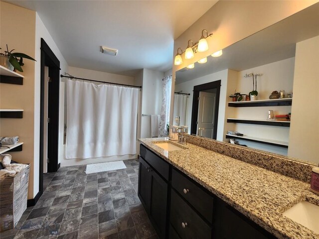
<svg viewBox="0 0 319 239">
<path fill-rule="evenodd" d="M 66 158 L 136 154 L 139 89 L 67 80 Z"/>
</svg>

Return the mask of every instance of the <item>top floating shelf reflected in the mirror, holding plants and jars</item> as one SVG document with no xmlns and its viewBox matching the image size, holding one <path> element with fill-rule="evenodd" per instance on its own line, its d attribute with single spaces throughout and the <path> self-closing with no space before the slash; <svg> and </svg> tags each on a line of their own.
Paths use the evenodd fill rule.
<svg viewBox="0 0 319 239">
<path fill-rule="evenodd" d="M 228 102 L 229 107 L 291 106 L 293 98 Z"/>
</svg>

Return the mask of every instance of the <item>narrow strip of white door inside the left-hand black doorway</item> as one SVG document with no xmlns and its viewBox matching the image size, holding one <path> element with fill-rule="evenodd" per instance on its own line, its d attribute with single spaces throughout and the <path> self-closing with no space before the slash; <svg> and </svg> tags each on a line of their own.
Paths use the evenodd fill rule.
<svg viewBox="0 0 319 239">
<path fill-rule="evenodd" d="M 49 68 L 44 67 L 44 122 L 43 122 L 43 173 L 47 172 L 48 157 L 48 89 L 49 89 Z"/>
</svg>

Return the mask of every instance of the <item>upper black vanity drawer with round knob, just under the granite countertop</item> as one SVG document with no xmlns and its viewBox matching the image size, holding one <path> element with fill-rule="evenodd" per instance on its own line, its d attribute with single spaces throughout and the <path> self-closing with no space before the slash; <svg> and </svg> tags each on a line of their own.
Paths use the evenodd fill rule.
<svg viewBox="0 0 319 239">
<path fill-rule="evenodd" d="M 212 223 L 214 199 L 211 195 L 176 169 L 172 170 L 171 184 L 209 223 Z"/>
</svg>

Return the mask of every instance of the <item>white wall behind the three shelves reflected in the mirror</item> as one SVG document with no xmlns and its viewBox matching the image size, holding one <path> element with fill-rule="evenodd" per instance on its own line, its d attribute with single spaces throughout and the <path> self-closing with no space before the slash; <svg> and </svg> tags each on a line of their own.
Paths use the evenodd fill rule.
<svg viewBox="0 0 319 239">
<path fill-rule="evenodd" d="M 248 94 L 252 91 L 253 82 L 252 77 L 245 78 L 245 74 L 261 73 L 262 76 L 257 77 L 257 91 L 258 100 L 268 100 L 273 91 L 285 90 L 286 94 L 293 92 L 294 81 L 294 66 L 295 57 L 288 58 L 282 61 L 273 62 L 270 64 L 254 67 L 237 73 L 237 85 L 233 88 L 231 93 L 241 92 Z M 231 101 L 231 98 L 228 98 Z M 229 107 L 232 108 L 232 107 Z M 267 119 L 268 111 L 273 110 L 275 115 L 286 115 L 291 112 L 291 106 L 277 106 L 277 107 L 239 107 L 231 113 L 227 114 L 227 118 L 236 119 Z M 273 139 L 288 142 L 289 141 L 289 127 L 277 127 L 269 125 L 255 125 L 242 123 L 227 123 L 233 129 L 241 132 L 247 136 L 254 136 L 265 139 Z M 231 125 L 233 128 L 231 128 Z M 228 139 L 226 139 L 228 141 Z M 287 155 L 288 149 L 283 147 L 276 147 L 262 143 L 255 143 L 249 141 L 238 140 L 241 144 L 246 144 L 249 147 L 260 150 L 271 151 Z"/>
</svg>

